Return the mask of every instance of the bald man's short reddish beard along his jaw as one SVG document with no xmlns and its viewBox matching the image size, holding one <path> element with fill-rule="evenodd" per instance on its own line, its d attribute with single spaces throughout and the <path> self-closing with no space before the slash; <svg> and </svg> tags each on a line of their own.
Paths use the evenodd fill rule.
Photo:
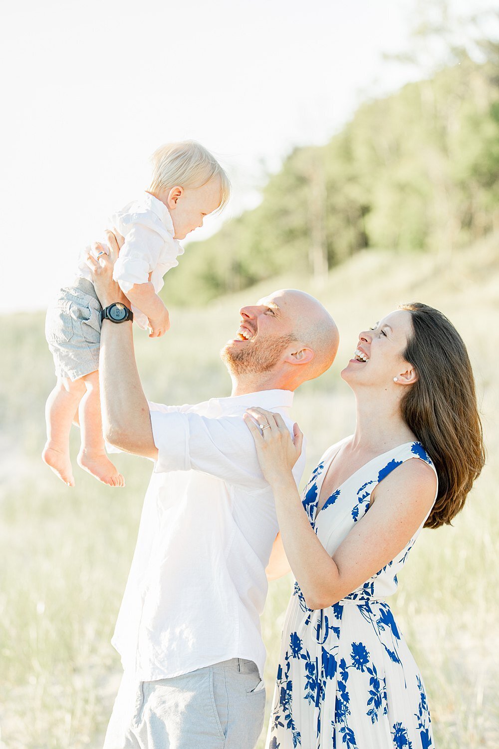
<svg viewBox="0 0 499 749">
<path fill-rule="evenodd" d="M 294 341 L 293 336 L 281 336 L 241 346 L 227 343 L 220 356 L 231 375 L 259 375 L 274 369 L 284 349 Z"/>
</svg>

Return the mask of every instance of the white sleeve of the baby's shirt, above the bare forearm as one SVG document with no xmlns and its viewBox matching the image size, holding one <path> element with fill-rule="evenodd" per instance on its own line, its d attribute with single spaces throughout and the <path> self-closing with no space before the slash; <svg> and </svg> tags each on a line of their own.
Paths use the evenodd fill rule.
<svg viewBox="0 0 499 749">
<path fill-rule="evenodd" d="M 125 237 L 120 255 L 114 263 L 113 279 L 123 294 L 136 283 L 147 283 L 149 274 L 159 263 L 165 237 L 146 222 L 134 223 Z"/>
</svg>

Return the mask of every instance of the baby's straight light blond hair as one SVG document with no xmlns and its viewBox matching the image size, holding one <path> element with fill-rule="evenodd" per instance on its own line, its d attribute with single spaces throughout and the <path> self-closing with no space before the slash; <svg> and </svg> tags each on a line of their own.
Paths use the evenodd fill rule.
<svg viewBox="0 0 499 749">
<path fill-rule="evenodd" d="M 151 157 L 153 174 L 150 192 L 172 187 L 202 187 L 212 178 L 220 178 L 221 210 L 230 198 L 230 180 L 224 169 L 200 143 L 189 140 L 165 143 Z"/>
</svg>

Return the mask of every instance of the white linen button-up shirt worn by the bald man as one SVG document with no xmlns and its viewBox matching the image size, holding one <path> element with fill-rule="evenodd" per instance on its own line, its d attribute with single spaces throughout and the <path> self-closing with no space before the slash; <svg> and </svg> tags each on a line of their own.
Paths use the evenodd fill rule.
<svg viewBox="0 0 499 749">
<path fill-rule="evenodd" d="M 281 413 L 293 393 L 263 390 L 198 405 L 150 404 L 159 456 L 112 644 L 139 681 L 229 658 L 263 675 L 260 613 L 278 522 L 251 432 L 250 406 Z M 298 483 L 304 450 L 293 474 Z"/>
</svg>

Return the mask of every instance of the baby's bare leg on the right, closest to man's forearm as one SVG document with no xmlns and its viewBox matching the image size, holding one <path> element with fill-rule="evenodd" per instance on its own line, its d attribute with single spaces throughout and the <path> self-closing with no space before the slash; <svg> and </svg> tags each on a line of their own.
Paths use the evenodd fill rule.
<svg viewBox="0 0 499 749">
<path fill-rule="evenodd" d="M 125 480 L 105 454 L 100 415 L 99 372 L 82 377 L 85 395 L 79 404 L 79 422 L 82 431 L 82 449 L 78 464 L 96 479 L 108 486 L 124 486 Z"/>
</svg>

